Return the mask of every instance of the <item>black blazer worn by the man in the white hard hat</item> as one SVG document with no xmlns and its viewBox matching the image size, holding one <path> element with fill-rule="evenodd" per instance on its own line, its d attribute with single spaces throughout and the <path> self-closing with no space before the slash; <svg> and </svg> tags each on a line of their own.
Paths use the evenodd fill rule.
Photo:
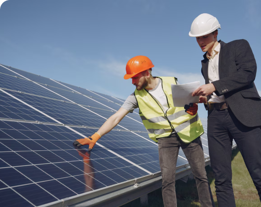
<svg viewBox="0 0 261 207">
<path fill-rule="evenodd" d="M 245 39 L 234 40 L 221 44 L 219 54 L 220 80 L 212 82 L 217 96 L 224 95 L 228 106 L 236 118 L 245 126 L 261 126 L 261 97 L 254 80 L 257 63 L 252 49 Z M 208 79 L 207 53 L 203 55 L 202 75 L 206 84 Z M 208 96 L 208 100 L 210 96 Z M 206 105 L 206 109 L 208 106 Z"/>
</svg>

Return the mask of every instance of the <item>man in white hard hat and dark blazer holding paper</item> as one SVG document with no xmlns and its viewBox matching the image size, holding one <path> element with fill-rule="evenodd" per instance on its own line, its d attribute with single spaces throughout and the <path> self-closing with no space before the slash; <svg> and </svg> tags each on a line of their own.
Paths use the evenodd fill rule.
<svg viewBox="0 0 261 207">
<path fill-rule="evenodd" d="M 206 84 L 192 96 L 200 96 L 208 110 L 208 144 L 215 175 L 219 207 L 235 207 L 232 188 L 231 146 L 234 139 L 261 198 L 261 97 L 254 80 L 257 64 L 249 43 L 218 41 L 217 18 L 199 15 L 189 36 L 201 50 Z"/>
</svg>

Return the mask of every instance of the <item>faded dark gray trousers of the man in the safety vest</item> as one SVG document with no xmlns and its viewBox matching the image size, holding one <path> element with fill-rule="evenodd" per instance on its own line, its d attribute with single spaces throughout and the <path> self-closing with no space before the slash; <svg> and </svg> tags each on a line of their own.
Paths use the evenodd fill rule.
<svg viewBox="0 0 261 207">
<path fill-rule="evenodd" d="M 164 207 L 177 207 L 175 174 L 180 147 L 191 167 L 201 207 L 215 207 L 210 190 L 201 138 L 191 143 L 184 143 L 173 135 L 170 138 L 158 139 L 159 164 L 162 174 L 162 197 Z"/>
</svg>

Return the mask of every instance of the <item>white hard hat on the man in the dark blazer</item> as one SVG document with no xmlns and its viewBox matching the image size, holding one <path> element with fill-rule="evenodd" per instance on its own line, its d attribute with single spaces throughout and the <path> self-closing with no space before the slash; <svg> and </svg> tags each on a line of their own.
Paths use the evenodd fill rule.
<svg viewBox="0 0 261 207">
<path fill-rule="evenodd" d="M 200 14 L 191 24 L 189 36 L 203 36 L 221 29 L 216 17 L 210 14 Z"/>
</svg>

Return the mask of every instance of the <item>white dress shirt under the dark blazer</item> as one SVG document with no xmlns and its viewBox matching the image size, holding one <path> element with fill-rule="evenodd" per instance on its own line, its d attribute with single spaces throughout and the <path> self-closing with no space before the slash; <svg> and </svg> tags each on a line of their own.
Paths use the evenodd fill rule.
<svg viewBox="0 0 261 207">
<path fill-rule="evenodd" d="M 219 54 L 220 54 L 220 43 L 213 50 L 213 56 L 209 56 L 209 53 L 207 53 L 209 83 L 212 83 L 213 81 L 220 79 L 220 76 L 219 76 Z M 224 95 L 218 97 L 215 94 L 215 92 L 213 92 L 211 99 L 208 101 L 208 103 L 214 104 L 214 103 L 222 103 L 224 101 L 225 101 Z"/>
</svg>

